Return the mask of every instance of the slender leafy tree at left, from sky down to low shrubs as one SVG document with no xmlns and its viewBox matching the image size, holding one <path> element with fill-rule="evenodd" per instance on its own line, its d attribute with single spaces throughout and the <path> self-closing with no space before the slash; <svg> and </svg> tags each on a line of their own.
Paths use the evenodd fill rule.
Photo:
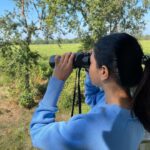
<svg viewBox="0 0 150 150">
<path fill-rule="evenodd" d="M 51 36 L 51 31 L 44 22 L 45 3 L 40 0 L 14 2 L 16 9 L 0 18 L 0 54 L 5 58 L 3 70 L 21 83 L 20 103 L 30 108 L 34 105 L 31 76 L 40 57 L 30 50 L 31 40 L 41 33 Z"/>
</svg>

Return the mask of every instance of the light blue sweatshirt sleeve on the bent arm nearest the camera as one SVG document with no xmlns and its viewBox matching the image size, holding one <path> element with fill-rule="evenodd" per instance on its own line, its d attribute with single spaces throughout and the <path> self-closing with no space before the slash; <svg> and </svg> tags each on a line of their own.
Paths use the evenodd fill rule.
<svg viewBox="0 0 150 150">
<path fill-rule="evenodd" d="M 33 114 L 30 135 L 32 144 L 36 148 L 43 150 L 84 149 L 86 138 L 82 133 L 85 133 L 86 120 L 82 117 L 83 115 L 74 116 L 68 122 L 55 122 L 55 113 L 58 111 L 57 101 L 63 85 L 64 81 L 52 77 L 42 101 Z"/>
</svg>

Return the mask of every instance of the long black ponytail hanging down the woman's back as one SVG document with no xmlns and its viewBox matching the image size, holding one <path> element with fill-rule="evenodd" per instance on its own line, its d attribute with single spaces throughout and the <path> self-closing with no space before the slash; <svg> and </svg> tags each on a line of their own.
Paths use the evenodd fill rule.
<svg viewBox="0 0 150 150">
<path fill-rule="evenodd" d="M 150 132 L 150 57 L 144 56 L 143 77 L 133 95 L 133 112 Z"/>
</svg>

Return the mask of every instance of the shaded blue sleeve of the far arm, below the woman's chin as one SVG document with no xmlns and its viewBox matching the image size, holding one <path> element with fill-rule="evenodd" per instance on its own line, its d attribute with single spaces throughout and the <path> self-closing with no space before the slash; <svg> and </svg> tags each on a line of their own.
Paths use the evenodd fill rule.
<svg viewBox="0 0 150 150">
<path fill-rule="evenodd" d="M 104 96 L 102 88 L 96 87 L 92 84 L 89 73 L 86 72 L 85 79 L 85 103 L 93 107 L 97 104 L 99 99 Z"/>
</svg>

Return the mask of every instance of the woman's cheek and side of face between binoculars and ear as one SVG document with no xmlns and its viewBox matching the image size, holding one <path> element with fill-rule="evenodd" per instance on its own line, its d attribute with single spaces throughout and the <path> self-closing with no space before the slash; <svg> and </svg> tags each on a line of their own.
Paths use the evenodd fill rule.
<svg viewBox="0 0 150 150">
<path fill-rule="evenodd" d="M 96 60 L 94 57 L 94 51 L 92 51 L 91 57 L 90 57 L 90 68 L 89 68 L 89 75 L 91 78 L 91 81 L 94 85 L 99 85 L 99 73 L 98 73 L 98 68 L 96 64 Z"/>
</svg>

